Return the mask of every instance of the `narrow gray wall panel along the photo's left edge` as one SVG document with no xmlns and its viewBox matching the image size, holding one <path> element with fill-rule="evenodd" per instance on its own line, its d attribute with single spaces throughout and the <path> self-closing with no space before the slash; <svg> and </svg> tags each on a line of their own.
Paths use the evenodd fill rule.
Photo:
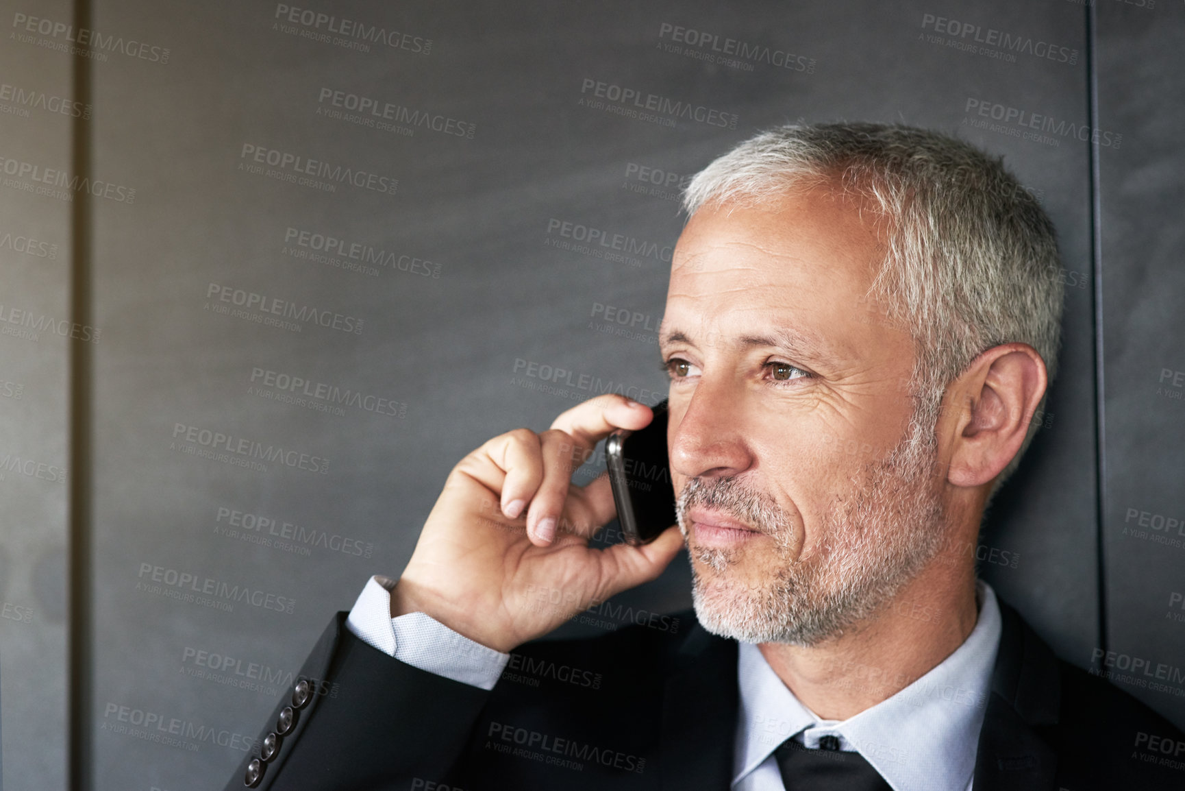
<svg viewBox="0 0 1185 791">
<path fill-rule="evenodd" d="M 70 18 L 66 0 L 39 2 Z M 60 789 L 66 740 L 71 59 L 0 45 L 0 745 L 7 789 Z M 30 12 L 31 13 L 31 12 Z M 34 39 L 38 37 L 33 37 Z M 37 191 L 43 189 L 41 193 Z M 50 190 L 47 194 L 44 190 Z M 81 328 L 79 328 L 81 330 Z M 60 332 L 60 333 L 59 333 Z M 79 332 L 81 334 L 81 332 Z"/>
</svg>

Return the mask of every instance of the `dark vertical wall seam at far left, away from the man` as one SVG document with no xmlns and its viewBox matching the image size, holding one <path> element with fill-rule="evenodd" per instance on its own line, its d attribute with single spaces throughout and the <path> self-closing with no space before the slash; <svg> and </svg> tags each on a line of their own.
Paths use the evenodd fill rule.
<svg viewBox="0 0 1185 791">
<path fill-rule="evenodd" d="M 91 27 L 90 0 L 73 1 L 75 28 Z M 82 45 L 79 45 L 82 46 Z M 88 47 L 89 49 L 89 47 Z M 75 56 L 71 64 L 73 98 L 91 103 L 91 59 Z M 70 166 L 79 179 L 90 178 L 91 125 L 73 119 L 70 127 Z M 70 315 L 76 326 L 94 326 L 91 281 L 91 196 L 76 192 L 70 203 Z M 65 580 L 70 602 L 68 639 L 68 770 L 71 791 L 90 789 L 91 765 L 91 390 L 94 344 L 73 340 L 69 352 L 70 486 L 68 522 L 70 560 Z"/>
</svg>

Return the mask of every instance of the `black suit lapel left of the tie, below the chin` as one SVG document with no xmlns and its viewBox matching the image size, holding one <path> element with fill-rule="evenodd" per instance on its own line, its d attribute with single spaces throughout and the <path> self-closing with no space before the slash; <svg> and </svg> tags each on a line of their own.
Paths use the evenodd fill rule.
<svg viewBox="0 0 1185 791">
<path fill-rule="evenodd" d="M 688 630 L 662 698 L 662 789 L 719 789 L 732 782 L 736 740 L 737 644 Z"/>
</svg>

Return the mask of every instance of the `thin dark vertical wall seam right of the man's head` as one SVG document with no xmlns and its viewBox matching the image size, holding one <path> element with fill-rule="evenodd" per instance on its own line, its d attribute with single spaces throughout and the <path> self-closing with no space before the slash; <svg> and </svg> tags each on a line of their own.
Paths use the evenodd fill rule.
<svg viewBox="0 0 1185 791">
<path fill-rule="evenodd" d="M 1091 129 L 1098 125 L 1098 62 L 1096 57 L 1095 4 L 1085 4 L 1087 14 L 1087 115 Z M 1098 145 L 1087 142 L 1087 157 L 1090 164 L 1090 257 L 1094 272 L 1090 315 L 1094 326 L 1094 366 L 1095 366 L 1095 557 L 1098 591 L 1098 648 L 1109 648 L 1107 620 L 1107 541 L 1103 525 L 1107 518 L 1107 402 L 1103 356 L 1103 260 L 1102 260 L 1102 192 L 1098 165 Z"/>
</svg>

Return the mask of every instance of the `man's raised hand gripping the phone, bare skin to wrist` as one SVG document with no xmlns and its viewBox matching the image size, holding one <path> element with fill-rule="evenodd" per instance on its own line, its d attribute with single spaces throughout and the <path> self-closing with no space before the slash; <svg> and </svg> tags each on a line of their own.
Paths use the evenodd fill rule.
<svg viewBox="0 0 1185 791">
<path fill-rule="evenodd" d="M 609 479 L 571 474 L 617 428 L 651 409 L 604 395 L 551 429 L 495 436 L 449 473 L 391 595 L 391 614 L 424 612 L 498 651 L 546 634 L 594 601 L 653 580 L 683 547 L 675 527 L 642 547 L 588 546 L 616 516 Z"/>
</svg>

